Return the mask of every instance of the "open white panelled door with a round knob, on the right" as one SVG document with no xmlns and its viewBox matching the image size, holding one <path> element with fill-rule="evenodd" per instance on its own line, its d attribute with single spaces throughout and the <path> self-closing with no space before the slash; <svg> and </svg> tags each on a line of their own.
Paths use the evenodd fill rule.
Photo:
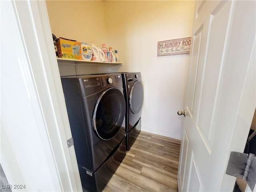
<svg viewBox="0 0 256 192">
<path fill-rule="evenodd" d="M 243 152 L 256 107 L 255 18 L 255 1 L 196 2 L 179 191 L 234 188 L 229 154 Z"/>
</svg>

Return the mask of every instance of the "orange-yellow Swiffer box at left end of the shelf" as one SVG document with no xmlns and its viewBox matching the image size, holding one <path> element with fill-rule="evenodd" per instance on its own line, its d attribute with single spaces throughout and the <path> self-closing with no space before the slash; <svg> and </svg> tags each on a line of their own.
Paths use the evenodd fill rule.
<svg viewBox="0 0 256 192">
<path fill-rule="evenodd" d="M 56 46 L 59 58 L 82 59 L 80 42 L 60 37 Z"/>
</svg>

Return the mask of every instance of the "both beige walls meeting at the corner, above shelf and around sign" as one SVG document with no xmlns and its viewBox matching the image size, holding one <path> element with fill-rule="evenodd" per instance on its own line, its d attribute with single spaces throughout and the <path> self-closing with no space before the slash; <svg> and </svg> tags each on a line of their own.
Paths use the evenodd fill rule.
<svg viewBox="0 0 256 192">
<path fill-rule="evenodd" d="M 46 5 L 57 37 L 93 41 L 96 46 L 106 43 L 118 50 L 123 62 L 107 72 L 141 72 L 142 130 L 181 138 L 183 119 L 177 111 L 184 110 L 189 55 L 157 57 L 157 42 L 191 36 L 194 1 L 46 1 Z M 76 10 L 70 12 L 72 7 Z M 91 19 L 82 19 L 85 15 Z"/>
</svg>

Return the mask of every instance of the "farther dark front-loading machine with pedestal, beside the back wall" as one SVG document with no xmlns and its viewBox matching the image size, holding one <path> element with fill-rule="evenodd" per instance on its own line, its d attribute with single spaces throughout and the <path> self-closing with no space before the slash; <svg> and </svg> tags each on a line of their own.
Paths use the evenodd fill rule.
<svg viewBox="0 0 256 192">
<path fill-rule="evenodd" d="M 124 98 L 126 100 L 126 150 L 130 150 L 141 130 L 143 87 L 140 72 L 122 73 Z"/>
</svg>

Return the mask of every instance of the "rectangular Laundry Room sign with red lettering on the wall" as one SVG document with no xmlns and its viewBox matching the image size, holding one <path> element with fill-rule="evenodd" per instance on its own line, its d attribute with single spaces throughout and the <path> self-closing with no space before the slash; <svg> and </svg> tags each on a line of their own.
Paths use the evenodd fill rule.
<svg viewBox="0 0 256 192">
<path fill-rule="evenodd" d="M 191 37 L 158 41 L 157 56 L 189 54 Z"/>
</svg>

